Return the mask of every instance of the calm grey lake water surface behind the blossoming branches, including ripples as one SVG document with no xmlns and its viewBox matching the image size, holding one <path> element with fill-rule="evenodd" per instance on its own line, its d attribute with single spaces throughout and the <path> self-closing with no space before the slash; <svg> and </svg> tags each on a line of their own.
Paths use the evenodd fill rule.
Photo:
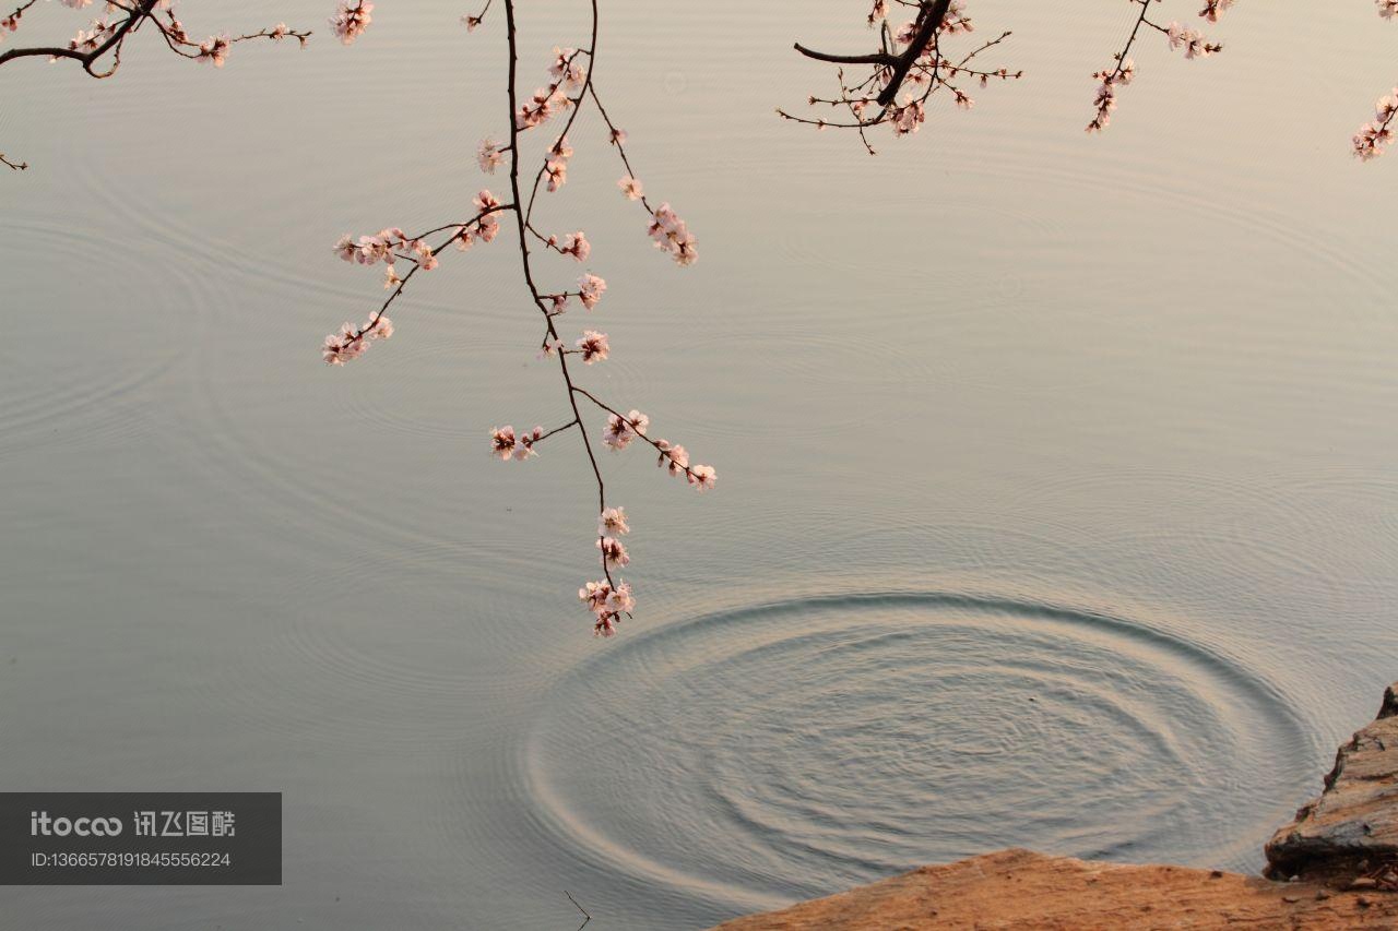
<svg viewBox="0 0 1398 931">
<path fill-rule="evenodd" d="M 1255 869 L 1398 678 L 1371 4 L 1239 4 L 1206 62 L 1148 38 L 1089 138 L 1131 11 L 987 0 L 1026 78 L 868 158 L 773 115 L 857 6 L 608 0 L 597 81 L 702 260 L 649 247 L 584 115 L 544 225 L 611 288 L 563 330 L 720 474 L 604 460 L 640 598 L 610 642 L 576 440 L 485 452 L 568 417 L 507 243 L 319 361 L 383 294 L 334 240 L 481 186 L 500 11 L 383 3 L 343 49 L 329 0 L 217 6 L 192 32 L 317 36 L 0 75 L 34 165 L 0 178 L 0 783 L 281 791 L 285 883 L 10 888 L 6 924 L 572 928 L 566 889 L 696 928 L 1009 844 Z M 530 6 L 524 91 L 583 27 Z"/>
</svg>

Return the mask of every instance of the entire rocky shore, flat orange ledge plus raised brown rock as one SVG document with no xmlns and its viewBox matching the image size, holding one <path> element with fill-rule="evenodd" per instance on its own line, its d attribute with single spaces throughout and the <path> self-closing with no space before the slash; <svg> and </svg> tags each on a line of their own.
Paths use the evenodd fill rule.
<svg viewBox="0 0 1398 931">
<path fill-rule="evenodd" d="M 1265 853 L 1265 876 L 1244 876 L 1001 850 L 719 927 L 1398 928 L 1398 684 Z"/>
</svg>

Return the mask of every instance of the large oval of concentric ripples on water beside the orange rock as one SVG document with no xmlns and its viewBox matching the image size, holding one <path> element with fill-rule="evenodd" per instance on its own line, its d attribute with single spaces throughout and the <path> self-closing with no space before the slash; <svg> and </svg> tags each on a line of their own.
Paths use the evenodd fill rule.
<svg viewBox="0 0 1398 931">
<path fill-rule="evenodd" d="M 1253 865 L 1313 756 L 1264 675 L 1160 628 L 886 593 L 624 640 L 561 682 L 526 766 L 584 851 L 761 902 L 1004 846 Z"/>
</svg>

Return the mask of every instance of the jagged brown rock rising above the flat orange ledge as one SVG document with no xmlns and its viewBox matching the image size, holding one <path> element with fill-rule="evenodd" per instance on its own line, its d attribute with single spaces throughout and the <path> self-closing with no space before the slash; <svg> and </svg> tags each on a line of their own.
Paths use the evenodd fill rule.
<svg viewBox="0 0 1398 931">
<path fill-rule="evenodd" d="M 1318 798 L 1267 843 L 1274 874 L 1336 860 L 1398 856 L 1398 685 L 1378 717 L 1339 748 Z"/>
</svg>

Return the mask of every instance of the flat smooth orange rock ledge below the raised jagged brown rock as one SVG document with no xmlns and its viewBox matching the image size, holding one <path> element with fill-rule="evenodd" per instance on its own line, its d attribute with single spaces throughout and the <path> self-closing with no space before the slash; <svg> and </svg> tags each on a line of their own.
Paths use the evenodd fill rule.
<svg viewBox="0 0 1398 931">
<path fill-rule="evenodd" d="M 1232 872 L 1128 867 L 1002 850 L 923 867 L 719 927 L 723 931 L 1149 931 L 1230 925 L 1394 928 L 1398 895 L 1360 896 Z"/>
</svg>

